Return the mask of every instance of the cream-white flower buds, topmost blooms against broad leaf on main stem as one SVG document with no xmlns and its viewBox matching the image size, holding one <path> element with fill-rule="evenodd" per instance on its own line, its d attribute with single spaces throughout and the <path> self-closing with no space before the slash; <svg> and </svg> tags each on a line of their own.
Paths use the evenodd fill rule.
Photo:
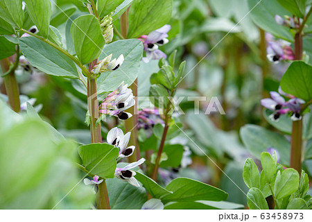
<svg viewBox="0 0 312 222">
<path fill-rule="evenodd" d="M 114 71 L 123 65 L 123 54 L 119 56 L 119 58 L 114 58 L 112 60 L 112 54 L 110 56 L 105 57 L 103 60 L 100 60 L 92 69 L 93 74 L 99 74 L 105 71 Z"/>
</svg>

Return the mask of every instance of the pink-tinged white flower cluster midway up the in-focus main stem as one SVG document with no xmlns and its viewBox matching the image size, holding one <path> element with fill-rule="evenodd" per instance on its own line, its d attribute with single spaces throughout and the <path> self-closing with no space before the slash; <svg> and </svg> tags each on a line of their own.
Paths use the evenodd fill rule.
<svg viewBox="0 0 312 222">
<path fill-rule="evenodd" d="M 103 100 L 99 112 L 125 120 L 132 117 L 132 114 L 124 112 L 124 110 L 127 110 L 133 105 L 135 105 L 135 96 L 132 94 L 132 89 L 128 89 L 127 84 L 123 85 L 121 83 L 117 89 L 108 94 Z"/>
</svg>

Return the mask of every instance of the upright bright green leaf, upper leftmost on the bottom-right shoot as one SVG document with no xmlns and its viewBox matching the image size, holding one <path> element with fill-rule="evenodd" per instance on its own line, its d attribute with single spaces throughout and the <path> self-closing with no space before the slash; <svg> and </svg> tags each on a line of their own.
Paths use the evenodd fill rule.
<svg viewBox="0 0 312 222">
<path fill-rule="evenodd" d="M 260 175 L 257 165 L 252 158 L 248 158 L 244 165 L 243 179 L 248 188 L 260 188 Z"/>
</svg>

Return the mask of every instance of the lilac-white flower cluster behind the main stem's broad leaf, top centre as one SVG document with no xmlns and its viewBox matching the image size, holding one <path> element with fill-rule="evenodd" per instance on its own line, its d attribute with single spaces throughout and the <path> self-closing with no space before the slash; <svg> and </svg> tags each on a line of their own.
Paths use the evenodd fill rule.
<svg viewBox="0 0 312 222">
<path fill-rule="evenodd" d="M 149 62 L 149 60 L 160 60 L 161 58 L 167 58 L 166 54 L 158 49 L 158 46 L 167 44 L 169 41 L 168 31 L 170 31 L 170 25 L 164 25 L 162 28 L 151 32 L 148 35 L 142 35 L 139 40 L 143 42 L 144 51 L 146 52 L 146 57 L 143 58 L 144 62 Z"/>
</svg>

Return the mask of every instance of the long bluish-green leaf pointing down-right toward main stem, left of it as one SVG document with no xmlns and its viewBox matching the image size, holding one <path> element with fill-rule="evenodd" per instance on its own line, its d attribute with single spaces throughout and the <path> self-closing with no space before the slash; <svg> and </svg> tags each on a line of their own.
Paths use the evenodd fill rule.
<svg viewBox="0 0 312 222">
<path fill-rule="evenodd" d="M 19 40 L 19 46 L 28 62 L 46 74 L 78 78 L 78 71 L 73 61 L 49 44 L 36 37 L 23 37 Z"/>
</svg>

